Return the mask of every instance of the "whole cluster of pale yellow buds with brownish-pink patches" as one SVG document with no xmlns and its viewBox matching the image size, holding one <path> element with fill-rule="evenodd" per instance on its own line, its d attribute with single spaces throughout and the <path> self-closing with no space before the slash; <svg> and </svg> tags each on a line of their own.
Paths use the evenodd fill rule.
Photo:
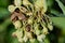
<svg viewBox="0 0 65 43">
<path fill-rule="evenodd" d="M 51 19 L 44 14 L 47 8 L 42 4 L 46 4 L 46 0 L 34 3 L 28 0 L 14 0 L 14 4 L 9 5 L 11 20 L 16 29 L 12 35 L 21 43 L 35 43 L 36 40 L 43 43 L 49 30 L 53 30 Z"/>
</svg>

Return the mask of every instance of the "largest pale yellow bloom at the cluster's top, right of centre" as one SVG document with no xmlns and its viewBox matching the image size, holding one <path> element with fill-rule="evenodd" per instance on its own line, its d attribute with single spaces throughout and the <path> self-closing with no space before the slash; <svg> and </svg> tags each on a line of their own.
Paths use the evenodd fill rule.
<svg viewBox="0 0 65 43">
<path fill-rule="evenodd" d="M 46 3 L 46 0 L 37 0 L 36 2 L 35 2 L 35 6 L 36 6 L 36 10 L 40 10 L 40 9 L 42 9 L 42 11 L 41 12 L 47 12 L 47 3 Z"/>
</svg>

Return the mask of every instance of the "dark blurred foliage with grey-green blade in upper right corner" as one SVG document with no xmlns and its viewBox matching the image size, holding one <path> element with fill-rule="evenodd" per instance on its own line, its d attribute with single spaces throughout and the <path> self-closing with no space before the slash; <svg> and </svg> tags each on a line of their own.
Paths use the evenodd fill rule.
<svg viewBox="0 0 65 43">
<path fill-rule="evenodd" d="M 48 14 L 50 16 L 65 16 L 64 0 L 47 0 Z"/>
</svg>

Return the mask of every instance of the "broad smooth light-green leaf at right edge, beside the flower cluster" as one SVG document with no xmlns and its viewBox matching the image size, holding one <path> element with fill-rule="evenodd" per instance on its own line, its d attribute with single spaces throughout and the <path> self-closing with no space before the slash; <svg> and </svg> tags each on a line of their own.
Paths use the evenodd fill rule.
<svg viewBox="0 0 65 43">
<path fill-rule="evenodd" d="M 62 30 L 62 33 L 65 34 L 65 17 L 51 17 L 53 25 Z"/>
</svg>

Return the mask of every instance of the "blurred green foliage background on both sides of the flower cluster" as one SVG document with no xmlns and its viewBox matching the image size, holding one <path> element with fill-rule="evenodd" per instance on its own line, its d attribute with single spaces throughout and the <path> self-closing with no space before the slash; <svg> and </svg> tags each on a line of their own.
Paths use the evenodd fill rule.
<svg viewBox="0 0 65 43">
<path fill-rule="evenodd" d="M 0 43 L 18 43 L 16 38 L 12 37 L 15 31 L 10 20 L 8 6 L 13 0 L 0 0 Z M 46 38 L 46 43 L 65 43 L 65 0 L 47 0 L 48 14 L 53 22 L 53 31 Z"/>
</svg>

